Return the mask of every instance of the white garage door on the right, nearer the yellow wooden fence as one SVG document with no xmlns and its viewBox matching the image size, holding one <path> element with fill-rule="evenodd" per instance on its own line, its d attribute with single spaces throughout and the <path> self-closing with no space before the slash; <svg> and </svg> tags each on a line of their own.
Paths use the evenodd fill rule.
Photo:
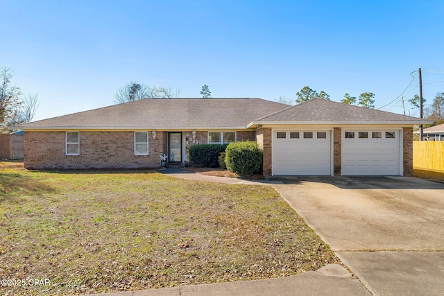
<svg viewBox="0 0 444 296">
<path fill-rule="evenodd" d="M 342 175 L 400 175 L 399 130 L 342 130 Z"/>
</svg>

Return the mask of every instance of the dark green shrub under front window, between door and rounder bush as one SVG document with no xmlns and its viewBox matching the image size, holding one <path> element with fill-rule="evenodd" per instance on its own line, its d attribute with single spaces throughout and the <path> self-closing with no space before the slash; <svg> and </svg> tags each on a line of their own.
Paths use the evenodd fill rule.
<svg viewBox="0 0 444 296">
<path fill-rule="evenodd" d="M 189 148 L 189 162 L 207 168 L 219 166 L 219 155 L 225 151 L 227 144 L 198 144 Z"/>
</svg>

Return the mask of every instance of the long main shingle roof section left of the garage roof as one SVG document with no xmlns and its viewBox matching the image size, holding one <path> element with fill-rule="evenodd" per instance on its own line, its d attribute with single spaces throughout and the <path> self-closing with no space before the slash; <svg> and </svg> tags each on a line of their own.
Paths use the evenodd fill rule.
<svg viewBox="0 0 444 296">
<path fill-rule="evenodd" d="M 245 128 L 287 105 L 261 98 L 145 99 L 34 121 L 21 129 L 54 128 Z"/>
</svg>

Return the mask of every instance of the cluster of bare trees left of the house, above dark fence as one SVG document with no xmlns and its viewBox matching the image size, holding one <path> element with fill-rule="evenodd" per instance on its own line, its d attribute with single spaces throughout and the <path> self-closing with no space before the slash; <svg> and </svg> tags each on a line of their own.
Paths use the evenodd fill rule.
<svg viewBox="0 0 444 296">
<path fill-rule="evenodd" d="M 23 94 L 20 87 L 12 84 L 12 78 L 14 71 L 1 69 L 0 132 L 7 132 L 8 126 L 32 121 L 39 106 L 38 93 Z"/>
</svg>

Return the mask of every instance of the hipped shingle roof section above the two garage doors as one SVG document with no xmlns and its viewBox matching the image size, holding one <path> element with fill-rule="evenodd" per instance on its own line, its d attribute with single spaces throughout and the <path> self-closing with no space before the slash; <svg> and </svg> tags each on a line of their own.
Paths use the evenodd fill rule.
<svg viewBox="0 0 444 296">
<path fill-rule="evenodd" d="M 428 123 L 417 119 L 391 112 L 368 109 L 353 105 L 345 105 L 334 101 L 313 98 L 299 105 L 280 110 L 254 123 Z"/>
</svg>

